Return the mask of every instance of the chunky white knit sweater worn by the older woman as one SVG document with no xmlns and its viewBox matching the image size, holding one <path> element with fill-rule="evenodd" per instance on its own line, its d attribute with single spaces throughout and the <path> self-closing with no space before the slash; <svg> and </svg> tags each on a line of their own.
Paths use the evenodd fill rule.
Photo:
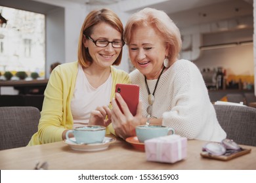
<svg viewBox="0 0 256 183">
<path fill-rule="evenodd" d="M 147 116 L 149 104 L 144 75 L 135 70 L 130 76 L 131 82 L 140 86 L 142 115 Z M 156 81 L 147 80 L 150 93 Z M 176 134 L 188 139 L 219 142 L 226 138 L 198 67 L 186 59 L 176 61 L 161 75 L 152 116 L 163 118 L 163 125 L 173 127 Z"/>
</svg>

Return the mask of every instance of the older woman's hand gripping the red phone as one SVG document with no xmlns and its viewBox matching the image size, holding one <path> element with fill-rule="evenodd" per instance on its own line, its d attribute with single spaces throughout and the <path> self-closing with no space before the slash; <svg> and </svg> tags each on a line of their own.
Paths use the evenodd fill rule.
<svg viewBox="0 0 256 183">
<path fill-rule="evenodd" d="M 123 113 L 119 109 L 116 99 L 123 110 Z M 141 125 L 143 122 L 142 118 L 142 104 L 139 101 L 139 105 L 137 107 L 137 114 L 133 116 L 131 114 L 127 104 L 121 97 L 119 93 L 116 93 L 116 99 L 112 100 L 112 125 L 116 131 L 116 135 L 121 137 L 122 139 L 126 139 L 127 137 L 135 136 L 135 127 L 137 125 Z"/>
</svg>

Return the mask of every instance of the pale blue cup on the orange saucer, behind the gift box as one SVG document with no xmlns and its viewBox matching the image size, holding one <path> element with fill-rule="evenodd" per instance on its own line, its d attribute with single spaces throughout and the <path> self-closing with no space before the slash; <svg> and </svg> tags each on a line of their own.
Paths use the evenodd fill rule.
<svg viewBox="0 0 256 183">
<path fill-rule="evenodd" d="M 138 125 L 135 130 L 140 142 L 175 133 L 173 128 L 164 125 Z"/>
</svg>

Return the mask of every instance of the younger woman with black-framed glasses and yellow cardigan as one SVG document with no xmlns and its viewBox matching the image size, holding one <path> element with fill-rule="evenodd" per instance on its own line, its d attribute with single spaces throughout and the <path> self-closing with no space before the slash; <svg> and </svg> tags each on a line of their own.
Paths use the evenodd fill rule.
<svg viewBox="0 0 256 183">
<path fill-rule="evenodd" d="M 123 25 L 112 10 L 103 8 L 87 15 L 78 61 L 58 65 L 51 73 L 38 131 L 29 145 L 62 141 L 66 131 L 77 126 L 110 124 L 108 106 L 116 83 L 130 83 L 127 73 L 112 67 L 121 62 L 122 35 Z"/>
</svg>

